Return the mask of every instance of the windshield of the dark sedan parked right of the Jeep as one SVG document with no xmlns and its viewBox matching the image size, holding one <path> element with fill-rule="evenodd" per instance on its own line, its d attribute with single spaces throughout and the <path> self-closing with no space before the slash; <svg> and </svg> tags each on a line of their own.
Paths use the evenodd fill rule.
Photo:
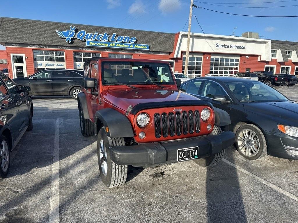
<svg viewBox="0 0 298 223">
<path fill-rule="evenodd" d="M 240 102 L 289 101 L 284 95 L 260 81 L 225 82 Z"/>
</svg>

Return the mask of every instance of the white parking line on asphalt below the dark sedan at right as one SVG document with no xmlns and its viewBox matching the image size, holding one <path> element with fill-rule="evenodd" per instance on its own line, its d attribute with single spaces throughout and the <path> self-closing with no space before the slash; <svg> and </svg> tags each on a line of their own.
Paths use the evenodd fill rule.
<svg viewBox="0 0 298 223">
<path fill-rule="evenodd" d="M 288 191 L 285 191 L 284 189 L 281 189 L 280 187 L 278 187 L 278 186 L 276 186 L 276 185 L 274 185 L 272 183 L 269 183 L 267 180 L 264 180 L 264 179 L 262 179 L 262 178 L 260 178 L 260 177 L 258 177 L 256 175 L 254 175 L 253 173 L 248 172 L 247 170 L 245 170 L 245 169 L 243 169 L 241 167 L 238 167 L 237 165 L 231 163 L 230 161 L 228 161 L 226 159 L 222 159 L 222 161 L 224 161 L 226 164 L 229 164 L 232 167 L 235 167 L 239 171 L 245 173 L 246 175 L 249 175 L 250 177 L 256 179 L 257 181 L 265 184 L 266 186 L 270 187 L 271 189 L 274 189 L 274 190 L 280 192 L 281 194 L 284 194 L 285 196 L 287 196 L 287 197 L 289 197 L 289 198 L 291 198 L 291 199 L 293 199 L 293 200 L 295 200 L 295 201 L 298 202 L 298 197 L 296 195 L 291 194 Z"/>
</svg>

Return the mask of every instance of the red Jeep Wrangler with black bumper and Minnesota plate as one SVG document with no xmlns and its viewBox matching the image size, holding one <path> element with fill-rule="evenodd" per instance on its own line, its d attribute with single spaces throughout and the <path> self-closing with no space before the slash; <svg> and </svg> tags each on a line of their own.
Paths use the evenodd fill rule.
<svg viewBox="0 0 298 223">
<path fill-rule="evenodd" d="M 229 115 L 177 87 L 180 79 L 165 61 L 94 57 L 85 62 L 78 95 L 81 132 L 97 135 L 107 187 L 125 183 L 127 165 L 194 159 L 207 167 L 234 144 L 235 135 L 218 127 L 230 124 Z"/>
</svg>

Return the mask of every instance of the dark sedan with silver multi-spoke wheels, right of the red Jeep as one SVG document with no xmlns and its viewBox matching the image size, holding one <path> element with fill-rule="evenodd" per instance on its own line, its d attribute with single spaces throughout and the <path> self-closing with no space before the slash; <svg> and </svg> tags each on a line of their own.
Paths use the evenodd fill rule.
<svg viewBox="0 0 298 223">
<path fill-rule="evenodd" d="M 298 103 L 274 88 L 237 77 L 202 77 L 184 82 L 180 90 L 229 113 L 232 124 L 223 130 L 235 133 L 243 157 L 298 159 Z"/>
</svg>

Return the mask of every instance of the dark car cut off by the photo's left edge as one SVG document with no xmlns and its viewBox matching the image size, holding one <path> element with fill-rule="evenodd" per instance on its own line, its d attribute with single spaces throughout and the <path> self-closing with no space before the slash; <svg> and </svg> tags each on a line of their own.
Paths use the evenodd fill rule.
<svg viewBox="0 0 298 223">
<path fill-rule="evenodd" d="M 18 86 L 0 71 L 0 178 L 10 167 L 10 152 L 25 131 L 32 130 L 33 104 L 29 86 Z"/>
</svg>

